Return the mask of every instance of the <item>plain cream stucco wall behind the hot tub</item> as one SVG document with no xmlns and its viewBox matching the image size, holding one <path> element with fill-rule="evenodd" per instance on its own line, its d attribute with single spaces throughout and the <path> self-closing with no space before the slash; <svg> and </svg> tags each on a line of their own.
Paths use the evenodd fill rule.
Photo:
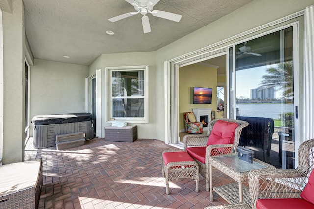
<svg viewBox="0 0 314 209">
<path fill-rule="evenodd" d="M 35 115 L 85 112 L 83 65 L 34 59 L 30 69 L 30 120 Z M 30 127 L 32 136 L 32 126 Z"/>
</svg>

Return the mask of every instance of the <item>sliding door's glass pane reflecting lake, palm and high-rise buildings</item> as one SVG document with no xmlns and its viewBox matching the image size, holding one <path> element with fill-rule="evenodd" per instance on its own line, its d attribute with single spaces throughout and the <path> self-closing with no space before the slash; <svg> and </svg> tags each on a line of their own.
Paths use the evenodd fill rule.
<svg viewBox="0 0 314 209">
<path fill-rule="evenodd" d="M 230 52 L 236 98 L 230 116 L 249 122 L 240 146 L 277 168 L 295 168 L 293 27 L 237 44 Z"/>
</svg>

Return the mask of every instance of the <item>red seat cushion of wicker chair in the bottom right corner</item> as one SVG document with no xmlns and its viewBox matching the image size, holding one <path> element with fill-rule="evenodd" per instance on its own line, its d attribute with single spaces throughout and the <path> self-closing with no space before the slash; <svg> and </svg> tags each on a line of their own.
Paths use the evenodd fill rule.
<svg viewBox="0 0 314 209">
<path fill-rule="evenodd" d="M 302 198 L 258 199 L 256 209 L 314 209 L 314 205 Z"/>
</svg>

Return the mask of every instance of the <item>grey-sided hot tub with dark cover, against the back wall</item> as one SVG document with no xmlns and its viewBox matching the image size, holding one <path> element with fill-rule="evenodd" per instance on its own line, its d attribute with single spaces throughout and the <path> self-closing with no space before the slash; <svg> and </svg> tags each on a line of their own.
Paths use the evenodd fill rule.
<svg viewBox="0 0 314 209">
<path fill-rule="evenodd" d="M 93 115 L 90 113 L 36 115 L 31 122 L 35 148 L 55 146 L 55 137 L 58 134 L 82 131 L 85 139 L 94 138 Z"/>
</svg>

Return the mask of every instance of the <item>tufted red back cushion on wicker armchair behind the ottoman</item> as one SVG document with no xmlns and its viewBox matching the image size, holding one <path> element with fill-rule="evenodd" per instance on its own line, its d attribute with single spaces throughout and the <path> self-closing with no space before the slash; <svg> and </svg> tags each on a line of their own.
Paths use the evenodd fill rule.
<svg viewBox="0 0 314 209">
<path fill-rule="evenodd" d="M 206 145 L 233 144 L 235 141 L 235 129 L 238 126 L 235 122 L 218 120 L 212 127 Z"/>
</svg>

